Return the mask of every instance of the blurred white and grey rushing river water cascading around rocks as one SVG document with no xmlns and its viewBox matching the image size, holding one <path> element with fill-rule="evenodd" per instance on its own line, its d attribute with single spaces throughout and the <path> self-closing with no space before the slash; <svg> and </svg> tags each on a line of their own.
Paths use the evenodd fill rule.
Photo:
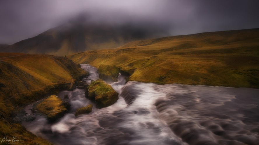
<svg viewBox="0 0 259 145">
<path fill-rule="evenodd" d="M 98 79 L 97 69 L 81 65 L 90 72 L 87 83 Z M 93 104 L 83 89 L 62 91 L 69 95 L 71 110 L 56 122 L 37 116 L 23 122 L 25 128 L 53 144 L 259 144 L 259 90 L 158 85 L 130 81 L 123 76 L 111 86 L 119 100 L 106 108 L 93 108 L 75 117 L 75 110 Z M 29 111 L 31 105 L 25 110 Z M 32 114 L 33 115 L 33 114 Z"/>
</svg>

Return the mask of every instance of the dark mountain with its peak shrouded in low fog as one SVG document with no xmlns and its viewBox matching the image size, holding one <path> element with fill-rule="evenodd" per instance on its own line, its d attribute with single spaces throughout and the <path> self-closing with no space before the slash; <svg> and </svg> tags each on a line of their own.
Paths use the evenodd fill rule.
<svg viewBox="0 0 259 145">
<path fill-rule="evenodd" d="M 162 34 L 165 33 L 161 30 L 133 24 L 70 21 L 13 45 L 0 46 L 0 51 L 65 56 L 86 50 L 115 48 L 133 40 L 161 37 Z"/>
</svg>

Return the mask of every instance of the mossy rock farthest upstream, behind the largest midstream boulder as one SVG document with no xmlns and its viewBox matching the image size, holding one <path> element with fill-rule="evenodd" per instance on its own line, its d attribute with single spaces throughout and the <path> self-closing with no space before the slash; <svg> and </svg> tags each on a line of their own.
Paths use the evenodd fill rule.
<svg viewBox="0 0 259 145">
<path fill-rule="evenodd" d="M 117 82 L 119 76 L 119 68 L 115 65 L 101 65 L 98 68 L 99 78 L 105 81 Z"/>
</svg>

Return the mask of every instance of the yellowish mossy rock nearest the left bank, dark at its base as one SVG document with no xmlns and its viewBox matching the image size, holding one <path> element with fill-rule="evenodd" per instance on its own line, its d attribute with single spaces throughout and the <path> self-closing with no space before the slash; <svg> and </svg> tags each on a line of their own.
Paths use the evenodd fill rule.
<svg viewBox="0 0 259 145">
<path fill-rule="evenodd" d="M 43 100 L 35 108 L 40 113 L 47 116 L 49 121 L 55 121 L 56 119 L 63 117 L 71 105 L 68 102 L 63 102 L 55 95 L 51 95 L 47 99 Z"/>
</svg>

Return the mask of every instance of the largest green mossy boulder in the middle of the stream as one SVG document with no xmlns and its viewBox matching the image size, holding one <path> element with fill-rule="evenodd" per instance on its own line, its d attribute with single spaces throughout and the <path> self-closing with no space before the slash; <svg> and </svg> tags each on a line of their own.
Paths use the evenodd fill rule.
<svg viewBox="0 0 259 145">
<path fill-rule="evenodd" d="M 85 97 L 95 101 L 97 108 L 110 106 L 119 99 L 119 94 L 113 90 L 111 85 L 105 84 L 101 79 L 92 81 L 88 89 L 86 89 L 86 92 Z"/>
</svg>

